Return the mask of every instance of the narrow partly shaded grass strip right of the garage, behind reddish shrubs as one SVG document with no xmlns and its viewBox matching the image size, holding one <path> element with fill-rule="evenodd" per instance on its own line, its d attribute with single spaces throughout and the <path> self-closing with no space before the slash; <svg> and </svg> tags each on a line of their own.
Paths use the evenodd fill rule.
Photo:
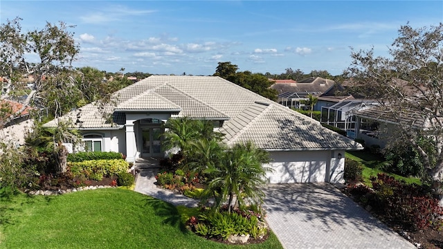
<svg viewBox="0 0 443 249">
<path fill-rule="evenodd" d="M 356 160 L 363 165 L 363 183 L 368 186 L 372 186 L 370 178 L 372 176 L 377 176 L 379 173 L 388 174 L 389 176 L 394 176 L 399 181 L 405 181 L 406 183 L 413 184 L 416 183 L 418 185 L 422 184 L 419 178 L 415 177 L 405 177 L 399 176 L 397 174 L 391 174 L 388 172 L 383 172 L 381 169 L 377 169 L 377 165 L 383 162 L 383 157 L 371 154 L 366 151 L 346 151 L 346 158 L 350 158 L 352 160 Z"/>
</svg>

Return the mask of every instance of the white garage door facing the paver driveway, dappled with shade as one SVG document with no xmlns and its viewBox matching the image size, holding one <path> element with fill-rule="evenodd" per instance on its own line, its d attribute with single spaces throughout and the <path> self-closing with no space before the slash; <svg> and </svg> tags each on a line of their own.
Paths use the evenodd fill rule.
<svg viewBox="0 0 443 249">
<path fill-rule="evenodd" d="M 330 151 L 275 151 L 267 165 L 273 172 L 266 176 L 270 183 L 318 183 L 326 181 Z"/>
</svg>

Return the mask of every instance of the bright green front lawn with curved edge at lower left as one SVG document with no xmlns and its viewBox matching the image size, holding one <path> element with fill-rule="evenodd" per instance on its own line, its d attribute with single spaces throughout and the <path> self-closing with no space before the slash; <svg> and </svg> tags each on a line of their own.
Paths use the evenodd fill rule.
<svg viewBox="0 0 443 249">
<path fill-rule="evenodd" d="M 0 248 L 282 248 L 229 246 L 186 230 L 174 206 L 123 189 L 0 195 Z"/>
</svg>

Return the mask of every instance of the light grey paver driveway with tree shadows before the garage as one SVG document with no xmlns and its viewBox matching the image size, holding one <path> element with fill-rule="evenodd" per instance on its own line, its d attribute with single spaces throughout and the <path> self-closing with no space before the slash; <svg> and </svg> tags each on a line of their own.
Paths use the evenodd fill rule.
<svg viewBox="0 0 443 249">
<path fill-rule="evenodd" d="M 284 248 L 415 248 L 329 183 L 264 192 L 266 220 Z"/>
</svg>

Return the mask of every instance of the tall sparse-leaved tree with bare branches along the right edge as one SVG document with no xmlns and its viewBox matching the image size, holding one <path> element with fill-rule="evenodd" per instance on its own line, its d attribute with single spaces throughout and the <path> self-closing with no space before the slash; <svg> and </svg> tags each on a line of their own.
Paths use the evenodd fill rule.
<svg viewBox="0 0 443 249">
<path fill-rule="evenodd" d="M 353 50 L 347 75 L 356 82 L 356 93 L 377 98 L 383 113 L 396 119 L 398 129 L 388 145 L 398 140 L 410 143 L 419 151 L 435 190 L 442 193 L 443 24 L 401 26 L 389 52 L 390 57 L 376 57 L 373 48 Z M 424 125 L 417 124 L 419 120 Z M 423 138 L 431 139 L 435 162 L 428 143 L 420 142 Z"/>
</svg>

